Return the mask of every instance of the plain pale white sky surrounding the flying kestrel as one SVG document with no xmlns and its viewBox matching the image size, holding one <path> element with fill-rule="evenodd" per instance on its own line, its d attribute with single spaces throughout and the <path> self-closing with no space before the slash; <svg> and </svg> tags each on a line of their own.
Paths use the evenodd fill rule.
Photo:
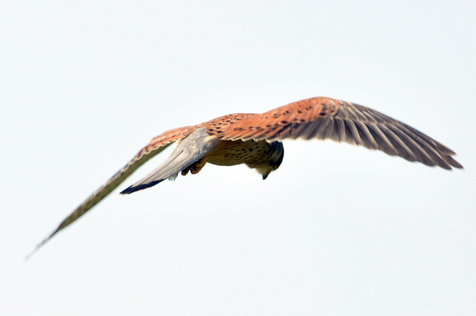
<svg viewBox="0 0 476 316">
<path fill-rule="evenodd" d="M 0 315 L 476 315 L 476 2 L 3 1 Z M 456 151 L 331 141 L 131 194 L 150 138 L 327 96 Z"/>
</svg>

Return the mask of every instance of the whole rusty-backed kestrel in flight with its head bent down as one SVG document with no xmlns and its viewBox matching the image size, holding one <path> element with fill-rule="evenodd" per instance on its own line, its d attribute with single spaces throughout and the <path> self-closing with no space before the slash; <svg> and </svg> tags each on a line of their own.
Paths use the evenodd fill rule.
<svg viewBox="0 0 476 316">
<path fill-rule="evenodd" d="M 206 163 L 218 166 L 246 164 L 263 179 L 279 168 L 284 139 L 331 139 L 377 149 L 390 156 L 444 169 L 463 168 L 456 153 L 415 128 L 376 110 L 327 97 L 293 102 L 262 114 L 221 116 L 195 126 L 168 130 L 152 138 L 123 168 L 66 217 L 27 256 L 29 258 L 60 230 L 68 227 L 108 196 L 147 160 L 177 142 L 158 168 L 120 194 L 153 187 L 178 173 L 197 174 Z"/>
</svg>

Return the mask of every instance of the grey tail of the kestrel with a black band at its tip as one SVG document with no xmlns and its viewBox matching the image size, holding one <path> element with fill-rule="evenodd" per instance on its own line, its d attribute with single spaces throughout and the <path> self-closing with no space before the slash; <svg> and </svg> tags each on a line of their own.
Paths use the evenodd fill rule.
<svg viewBox="0 0 476 316">
<path fill-rule="evenodd" d="M 219 141 L 218 137 L 209 136 L 207 134 L 207 128 L 197 128 L 178 143 L 170 157 L 159 167 L 149 173 L 145 178 L 122 191 L 121 194 L 130 194 L 153 187 L 168 178 L 177 178 L 180 171 L 205 156 Z"/>
</svg>

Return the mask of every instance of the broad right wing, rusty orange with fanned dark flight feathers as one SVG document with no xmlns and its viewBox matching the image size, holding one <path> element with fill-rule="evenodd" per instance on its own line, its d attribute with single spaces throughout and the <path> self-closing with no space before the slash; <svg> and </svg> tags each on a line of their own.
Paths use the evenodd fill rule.
<svg viewBox="0 0 476 316">
<path fill-rule="evenodd" d="M 263 114 L 246 115 L 208 133 L 223 140 L 332 139 L 445 169 L 463 168 L 455 152 L 422 132 L 373 109 L 317 97 Z"/>
</svg>

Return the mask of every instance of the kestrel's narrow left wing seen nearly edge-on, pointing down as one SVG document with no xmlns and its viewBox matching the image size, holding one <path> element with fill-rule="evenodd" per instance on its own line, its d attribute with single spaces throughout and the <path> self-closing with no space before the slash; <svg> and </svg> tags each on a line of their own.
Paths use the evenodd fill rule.
<svg viewBox="0 0 476 316">
<path fill-rule="evenodd" d="M 175 128 L 165 133 L 152 138 L 146 147 L 142 148 L 137 155 L 129 161 L 129 163 L 120 169 L 112 178 L 104 183 L 98 190 L 96 190 L 89 198 L 87 198 L 79 207 L 77 207 L 68 217 L 66 217 L 53 232 L 43 239 L 33 251 L 27 256 L 31 257 L 41 246 L 51 239 L 61 229 L 67 227 L 69 224 L 77 220 L 81 215 L 89 211 L 92 207 L 99 203 L 100 200 L 109 195 L 115 188 L 119 186 L 126 178 L 128 178 L 137 168 L 143 165 L 147 160 L 159 154 L 162 150 L 167 148 L 171 143 L 187 137 L 195 130 L 194 126 L 187 126 L 183 128 Z"/>
</svg>

